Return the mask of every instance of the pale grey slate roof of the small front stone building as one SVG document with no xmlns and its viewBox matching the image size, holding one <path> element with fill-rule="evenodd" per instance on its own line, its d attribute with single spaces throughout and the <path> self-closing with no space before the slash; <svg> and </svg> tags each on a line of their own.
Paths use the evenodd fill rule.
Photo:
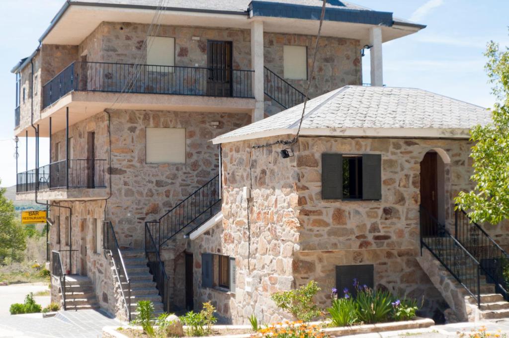
<svg viewBox="0 0 509 338">
<path fill-rule="evenodd" d="M 214 143 L 296 131 L 303 104 L 218 136 Z M 491 121 L 486 108 L 421 89 L 345 86 L 309 100 L 302 128 L 470 129 Z M 280 131 L 278 133 L 277 131 Z M 262 137 L 260 136 L 260 137 Z"/>
</svg>

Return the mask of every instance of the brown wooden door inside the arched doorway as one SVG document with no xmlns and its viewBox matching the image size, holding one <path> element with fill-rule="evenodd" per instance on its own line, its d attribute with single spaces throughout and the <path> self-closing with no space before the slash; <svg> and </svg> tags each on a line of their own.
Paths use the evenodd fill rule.
<svg viewBox="0 0 509 338">
<path fill-rule="evenodd" d="M 438 219 L 437 182 L 437 153 L 426 153 L 420 162 L 420 205 L 434 219 Z M 432 225 L 435 222 L 426 224 L 422 236 L 436 236 L 438 229 Z"/>
</svg>

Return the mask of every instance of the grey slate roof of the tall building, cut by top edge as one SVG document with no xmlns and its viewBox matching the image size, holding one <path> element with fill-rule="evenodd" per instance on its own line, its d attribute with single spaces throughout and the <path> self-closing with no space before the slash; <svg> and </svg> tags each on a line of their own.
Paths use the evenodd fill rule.
<svg viewBox="0 0 509 338">
<path fill-rule="evenodd" d="M 303 6 L 322 6 L 322 0 L 263 0 L 265 2 L 294 4 Z M 168 0 L 165 2 L 167 7 L 185 8 L 195 10 L 211 11 L 232 11 L 246 12 L 251 0 Z M 72 3 L 93 3 L 104 5 L 126 5 L 126 6 L 153 6 L 157 7 L 161 0 L 71 0 Z M 164 3 L 164 1 L 162 1 Z M 341 1 L 345 6 L 334 5 L 334 2 L 327 3 L 330 8 L 347 8 L 354 10 L 370 10 L 359 5 Z"/>
</svg>

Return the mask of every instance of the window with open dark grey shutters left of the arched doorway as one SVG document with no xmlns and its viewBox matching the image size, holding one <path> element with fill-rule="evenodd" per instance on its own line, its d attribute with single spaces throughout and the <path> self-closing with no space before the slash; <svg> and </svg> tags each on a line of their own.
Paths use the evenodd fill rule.
<svg viewBox="0 0 509 338">
<path fill-rule="evenodd" d="M 380 154 L 322 154 L 322 199 L 381 200 Z"/>
</svg>

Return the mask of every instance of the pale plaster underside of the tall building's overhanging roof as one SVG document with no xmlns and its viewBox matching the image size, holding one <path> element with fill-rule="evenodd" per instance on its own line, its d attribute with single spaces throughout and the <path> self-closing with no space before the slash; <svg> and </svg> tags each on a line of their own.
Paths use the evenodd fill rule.
<svg viewBox="0 0 509 338">
<path fill-rule="evenodd" d="M 137 22 L 150 24 L 154 17 L 153 10 L 93 7 L 73 5 L 66 10 L 58 23 L 45 36 L 43 44 L 78 45 L 89 36 L 103 21 Z M 274 33 L 305 34 L 318 31 L 317 20 L 303 20 L 276 17 L 248 18 L 247 15 L 219 13 L 166 11 L 160 16 L 159 22 L 164 25 L 230 27 L 249 29 L 252 20 L 263 20 L 264 30 Z M 369 28 L 372 25 L 326 21 L 322 34 L 330 37 L 358 39 L 361 45 L 369 42 Z M 419 29 L 411 26 L 394 24 L 383 26 L 383 41 L 390 41 L 413 34 Z M 313 33 L 314 34 L 314 33 Z"/>
</svg>

